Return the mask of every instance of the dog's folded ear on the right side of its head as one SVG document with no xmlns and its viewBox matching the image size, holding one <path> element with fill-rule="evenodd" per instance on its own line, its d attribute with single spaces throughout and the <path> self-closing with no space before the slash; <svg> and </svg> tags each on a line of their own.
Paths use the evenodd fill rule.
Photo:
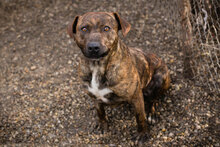
<svg viewBox="0 0 220 147">
<path fill-rule="evenodd" d="M 131 25 L 121 18 L 118 13 L 113 13 L 116 21 L 118 22 L 118 30 L 122 30 L 122 34 L 125 37 L 131 29 Z"/>
</svg>

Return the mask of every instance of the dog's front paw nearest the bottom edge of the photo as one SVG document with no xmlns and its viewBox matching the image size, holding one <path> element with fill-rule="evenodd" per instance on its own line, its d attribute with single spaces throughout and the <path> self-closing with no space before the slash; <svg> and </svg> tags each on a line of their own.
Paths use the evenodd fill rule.
<svg viewBox="0 0 220 147">
<path fill-rule="evenodd" d="M 148 133 L 137 133 L 132 137 L 132 141 L 136 145 L 141 145 L 144 144 L 149 138 L 150 135 Z"/>
</svg>

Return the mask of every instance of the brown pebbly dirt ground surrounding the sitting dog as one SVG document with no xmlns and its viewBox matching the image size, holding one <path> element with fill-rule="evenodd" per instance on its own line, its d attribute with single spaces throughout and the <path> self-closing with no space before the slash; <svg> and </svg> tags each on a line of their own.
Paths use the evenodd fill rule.
<svg viewBox="0 0 220 147">
<path fill-rule="evenodd" d="M 77 77 L 80 50 L 66 33 L 75 15 L 117 11 L 132 29 L 124 42 L 162 57 L 172 86 L 146 146 L 220 146 L 219 97 L 183 77 L 174 1 L 2 0 L 0 2 L 0 146 L 134 146 L 134 110 L 107 108 L 110 131 Z M 169 5 L 167 5 L 169 4 Z M 169 13 L 168 13 L 169 12 Z M 122 35 L 121 35 L 122 36 Z"/>
</svg>

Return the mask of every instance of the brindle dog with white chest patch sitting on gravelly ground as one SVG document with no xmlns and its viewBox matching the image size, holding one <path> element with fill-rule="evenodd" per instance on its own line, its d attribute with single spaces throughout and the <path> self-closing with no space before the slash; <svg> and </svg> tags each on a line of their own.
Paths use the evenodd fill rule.
<svg viewBox="0 0 220 147">
<path fill-rule="evenodd" d="M 154 110 L 155 94 L 169 88 L 170 75 L 156 55 L 120 40 L 118 31 L 126 36 L 130 28 L 118 13 L 89 12 L 76 16 L 67 31 L 82 51 L 79 75 L 94 100 L 100 125 L 107 129 L 104 106 L 131 103 L 138 124 L 136 139 L 144 142 L 149 134 L 146 113 Z"/>
</svg>

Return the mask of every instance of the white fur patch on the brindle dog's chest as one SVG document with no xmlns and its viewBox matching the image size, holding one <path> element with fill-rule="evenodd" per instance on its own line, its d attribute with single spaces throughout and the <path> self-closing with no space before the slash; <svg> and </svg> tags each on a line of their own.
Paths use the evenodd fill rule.
<svg viewBox="0 0 220 147">
<path fill-rule="evenodd" d="M 96 96 L 97 99 L 102 100 L 104 103 L 108 103 L 109 100 L 105 98 L 106 94 L 112 93 L 112 90 L 109 88 L 99 89 L 99 81 L 98 81 L 98 67 L 92 68 L 92 80 L 90 86 L 88 86 L 89 92 Z"/>
</svg>

